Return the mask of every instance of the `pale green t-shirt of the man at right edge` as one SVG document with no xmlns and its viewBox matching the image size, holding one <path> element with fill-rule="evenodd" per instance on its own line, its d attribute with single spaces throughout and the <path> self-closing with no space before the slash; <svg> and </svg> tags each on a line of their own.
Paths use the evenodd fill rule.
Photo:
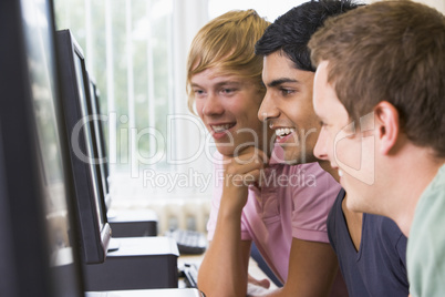
<svg viewBox="0 0 445 297">
<path fill-rule="evenodd" d="M 406 263 L 413 297 L 445 296 L 445 165 L 415 208 Z"/>
</svg>

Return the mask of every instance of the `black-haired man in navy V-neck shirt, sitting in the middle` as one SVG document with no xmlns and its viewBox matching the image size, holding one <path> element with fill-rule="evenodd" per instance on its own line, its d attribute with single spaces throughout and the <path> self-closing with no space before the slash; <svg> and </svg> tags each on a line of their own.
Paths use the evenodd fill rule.
<svg viewBox="0 0 445 297">
<path fill-rule="evenodd" d="M 342 14 L 351 6 L 329 0 L 301 4 L 269 25 L 257 42 L 267 88 L 259 117 L 276 131 L 288 163 L 313 161 L 307 151 L 312 153 L 320 132 L 312 105 L 315 68 L 308 42 L 327 18 Z M 320 165 L 338 178 L 327 161 Z M 407 296 L 406 237 L 390 218 L 354 213 L 345 202 L 342 190 L 328 217 L 328 235 L 350 296 Z"/>
</svg>

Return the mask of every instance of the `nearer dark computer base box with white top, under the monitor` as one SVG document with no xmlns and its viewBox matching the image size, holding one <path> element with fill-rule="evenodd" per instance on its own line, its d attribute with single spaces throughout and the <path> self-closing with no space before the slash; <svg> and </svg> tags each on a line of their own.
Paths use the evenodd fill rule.
<svg viewBox="0 0 445 297">
<path fill-rule="evenodd" d="M 117 245 L 116 245 L 117 243 Z M 86 264 L 86 291 L 177 288 L 179 256 L 169 237 L 113 238 L 105 262 Z"/>
</svg>

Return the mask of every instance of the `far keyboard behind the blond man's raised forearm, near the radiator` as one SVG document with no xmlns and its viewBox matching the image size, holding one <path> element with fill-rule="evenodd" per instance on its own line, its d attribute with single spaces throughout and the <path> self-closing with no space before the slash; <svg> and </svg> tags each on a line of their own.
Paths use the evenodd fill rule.
<svg viewBox="0 0 445 297">
<path fill-rule="evenodd" d="M 165 236 L 176 240 L 180 255 L 200 255 L 207 248 L 207 238 L 197 231 L 174 229 L 166 232 Z"/>
</svg>

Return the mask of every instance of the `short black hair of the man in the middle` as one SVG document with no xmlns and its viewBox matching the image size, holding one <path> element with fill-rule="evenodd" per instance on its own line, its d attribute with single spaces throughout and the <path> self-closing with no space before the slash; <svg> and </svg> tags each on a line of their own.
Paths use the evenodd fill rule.
<svg viewBox="0 0 445 297">
<path fill-rule="evenodd" d="M 315 71 L 311 64 L 308 42 L 311 35 L 319 29 L 324 20 L 358 8 L 360 4 L 351 0 L 311 0 L 294 7 L 272 24 L 258 40 L 255 53 L 268 55 L 281 50 L 296 65 L 297 69 Z"/>
</svg>

